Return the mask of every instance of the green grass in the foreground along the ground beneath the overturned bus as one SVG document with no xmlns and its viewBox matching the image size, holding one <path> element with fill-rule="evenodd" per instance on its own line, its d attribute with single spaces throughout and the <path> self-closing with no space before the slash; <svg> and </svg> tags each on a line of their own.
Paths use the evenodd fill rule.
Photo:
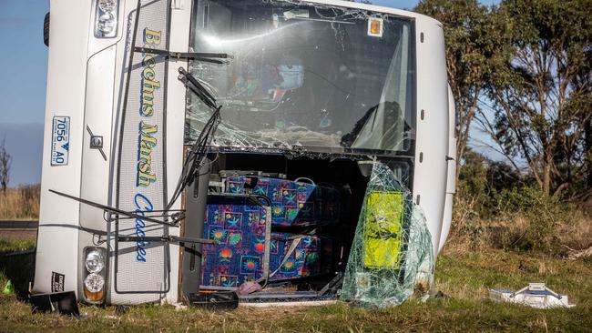
<svg viewBox="0 0 592 333">
<path fill-rule="evenodd" d="M 0 331 L 59 332 L 476 332 L 589 331 L 592 328 L 592 264 L 501 250 L 444 253 L 435 289 L 444 298 L 409 301 L 397 308 L 364 310 L 344 303 L 316 308 L 239 308 L 212 312 L 146 305 L 117 315 L 116 308 L 80 306 L 84 318 L 31 315 L 26 303 L 0 298 Z M 546 282 L 576 308 L 535 309 L 487 299 L 489 288 L 521 288 Z"/>
</svg>

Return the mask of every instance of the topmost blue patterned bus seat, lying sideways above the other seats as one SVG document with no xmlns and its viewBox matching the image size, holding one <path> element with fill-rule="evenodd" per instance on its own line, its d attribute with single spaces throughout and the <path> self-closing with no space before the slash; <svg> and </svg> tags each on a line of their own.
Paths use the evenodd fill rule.
<svg viewBox="0 0 592 333">
<path fill-rule="evenodd" d="M 269 197 L 271 224 L 306 227 L 332 224 L 339 218 L 340 193 L 332 187 L 270 177 L 226 178 L 226 192 Z"/>
</svg>

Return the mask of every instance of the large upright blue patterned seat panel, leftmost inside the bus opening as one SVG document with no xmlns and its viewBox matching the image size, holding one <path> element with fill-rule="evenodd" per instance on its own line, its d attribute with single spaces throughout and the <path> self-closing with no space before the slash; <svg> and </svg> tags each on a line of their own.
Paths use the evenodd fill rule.
<svg viewBox="0 0 592 333">
<path fill-rule="evenodd" d="M 269 210 L 248 196 L 209 197 L 204 237 L 219 244 L 202 247 L 202 287 L 234 289 L 263 276 Z"/>
</svg>

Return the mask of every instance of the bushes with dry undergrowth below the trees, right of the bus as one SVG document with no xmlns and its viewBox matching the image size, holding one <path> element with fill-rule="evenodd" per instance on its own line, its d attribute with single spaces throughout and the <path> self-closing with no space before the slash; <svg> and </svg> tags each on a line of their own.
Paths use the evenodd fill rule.
<svg viewBox="0 0 592 333">
<path fill-rule="evenodd" d="M 564 255 L 592 245 L 592 221 L 501 163 L 469 151 L 454 197 L 451 242 Z"/>
</svg>

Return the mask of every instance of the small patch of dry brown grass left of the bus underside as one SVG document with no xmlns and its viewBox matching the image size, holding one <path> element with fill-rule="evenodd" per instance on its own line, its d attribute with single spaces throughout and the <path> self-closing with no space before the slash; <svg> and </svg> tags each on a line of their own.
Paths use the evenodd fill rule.
<svg viewBox="0 0 592 333">
<path fill-rule="evenodd" d="M 0 192 L 0 220 L 39 218 L 39 185 L 8 188 Z"/>
</svg>

